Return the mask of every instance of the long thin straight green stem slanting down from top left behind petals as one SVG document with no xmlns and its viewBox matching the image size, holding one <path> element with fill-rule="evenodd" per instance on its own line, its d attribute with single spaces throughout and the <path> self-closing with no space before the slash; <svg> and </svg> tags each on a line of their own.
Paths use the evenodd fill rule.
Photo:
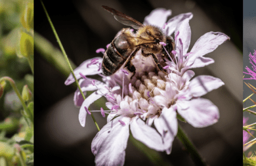
<svg viewBox="0 0 256 166">
<path fill-rule="evenodd" d="M 42 5 L 43 5 L 43 1 L 42 1 L 42 0 L 41 0 L 41 3 L 42 3 Z M 53 29 L 53 33 L 54 33 L 54 35 L 55 35 L 55 37 L 56 37 L 56 39 L 57 39 L 58 45 L 60 46 L 60 50 L 62 51 L 62 53 L 63 53 L 63 55 L 64 55 L 64 58 L 65 58 L 66 62 L 68 63 L 68 67 L 70 68 L 71 73 L 72 73 L 72 75 L 73 75 L 73 77 L 74 77 L 74 79 L 75 79 L 75 83 L 76 83 L 76 85 L 77 85 L 77 87 L 78 87 L 80 93 L 82 94 L 83 99 L 85 100 L 85 95 L 83 94 L 83 91 L 81 90 L 81 87 L 79 86 L 79 83 L 78 83 L 78 81 L 77 81 L 77 79 L 76 79 L 76 77 L 75 77 L 75 73 L 74 73 L 74 71 L 73 71 L 73 69 L 72 69 L 72 66 L 71 66 L 71 64 L 70 64 L 70 61 L 68 60 L 68 56 L 67 56 L 67 54 L 66 54 L 66 51 L 64 50 L 64 47 L 62 46 L 62 43 L 60 42 L 60 38 L 58 38 L 58 34 L 57 34 L 57 32 L 56 32 L 56 30 L 55 30 L 55 28 L 54 28 L 54 26 L 53 26 L 53 22 L 51 22 L 51 18 L 50 18 L 50 16 L 49 16 L 47 10 L 45 9 L 45 5 L 43 5 L 43 9 L 45 10 L 45 14 L 46 14 L 46 16 L 47 16 L 47 19 L 48 19 L 48 21 L 49 21 L 49 23 L 50 23 L 50 25 L 51 25 L 51 28 Z M 91 109 L 88 108 L 88 110 L 90 111 Z M 92 112 L 91 112 L 91 117 L 93 117 L 93 121 L 95 122 L 95 125 L 96 125 L 97 129 L 98 129 L 98 131 L 100 131 L 100 127 L 98 127 L 98 123 L 96 123 L 95 117 L 94 117 L 94 115 L 93 115 Z"/>
</svg>

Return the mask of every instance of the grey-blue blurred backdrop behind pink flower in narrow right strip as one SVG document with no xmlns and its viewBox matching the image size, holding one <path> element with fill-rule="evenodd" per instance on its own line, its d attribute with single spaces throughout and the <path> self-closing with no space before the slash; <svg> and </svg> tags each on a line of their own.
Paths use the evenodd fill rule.
<svg viewBox="0 0 256 166">
<path fill-rule="evenodd" d="M 245 70 L 245 67 L 248 66 L 248 68 L 250 68 L 251 70 L 253 68 L 251 68 L 252 64 L 249 62 L 249 53 L 251 52 L 251 54 L 253 54 L 253 52 L 256 50 L 256 9 L 253 7 L 253 5 L 256 5 L 255 1 L 252 0 L 245 0 L 244 1 L 244 16 L 243 16 L 243 49 L 244 49 L 244 57 L 243 57 L 243 62 L 244 62 L 244 68 L 243 71 L 247 72 L 247 70 Z M 250 75 L 244 74 L 245 78 L 249 78 Z M 256 81 L 255 80 L 244 80 L 245 83 L 250 83 L 251 85 L 253 85 L 253 87 L 256 87 Z M 247 87 L 247 85 L 245 85 L 245 83 L 243 83 L 243 94 L 244 94 L 244 98 L 246 98 L 247 96 L 249 96 L 250 94 L 252 94 L 253 92 L 251 91 L 251 89 L 249 89 L 249 87 Z M 256 96 L 253 95 L 251 97 L 252 100 L 256 101 Z M 246 101 L 244 102 L 244 108 L 247 108 L 248 106 L 252 106 L 254 105 L 253 102 Z M 252 108 L 251 111 L 256 111 L 255 108 Z M 255 123 L 256 121 L 256 116 L 253 114 L 249 114 L 248 112 L 244 113 L 244 117 L 249 117 L 248 121 L 247 121 L 247 125 L 251 124 L 251 123 Z M 253 134 L 253 136 L 255 136 L 255 132 Z M 249 140 L 252 140 L 253 137 L 249 138 Z M 247 150 L 245 152 L 245 155 L 251 155 L 252 152 L 255 152 L 256 147 L 255 145 L 252 146 L 251 148 L 249 148 L 249 150 Z"/>
</svg>

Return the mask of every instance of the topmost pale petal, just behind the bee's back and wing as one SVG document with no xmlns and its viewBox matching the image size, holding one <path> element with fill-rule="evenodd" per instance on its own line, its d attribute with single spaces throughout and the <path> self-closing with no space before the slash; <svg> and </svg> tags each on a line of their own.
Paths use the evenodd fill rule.
<svg viewBox="0 0 256 166">
<path fill-rule="evenodd" d="M 158 8 L 145 17 L 143 24 L 163 28 L 168 16 L 171 16 L 171 10 Z"/>
</svg>

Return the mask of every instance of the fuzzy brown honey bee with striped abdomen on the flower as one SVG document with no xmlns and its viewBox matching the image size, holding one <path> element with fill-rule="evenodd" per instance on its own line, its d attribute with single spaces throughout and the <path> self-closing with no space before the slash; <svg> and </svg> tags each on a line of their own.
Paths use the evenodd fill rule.
<svg viewBox="0 0 256 166">
<path fill-rule="evenodd" d="M 103 9 L 114 14 L 114 18 L 121 24 L 131 26 L 137 33 L 133 33 L 129 28 L 123 28 L 120 35 L 110 43 L 107 51 L 104 53 L 102 60 L 102 72 L 104 75 L 112 75 L 115 73 L 124 63 L 129 72 L 132 72 L 133 77 L 135 75 L 135 66 L 133 66 L 131 60 L 135 57 L 137 52 L 141 49 L 142 56 L 152 56 L 157 68 L 164 72 L 158 57 L 156 54 L 161 52 L 161 56 L 169 58 L 167 52 L 171 54 L 175 43 L 170 36 L 166 36 L 160 28 L 156 26 L 143 25 L 137 20 L 119 12 L 110 7 L 102 6 Z M 166 43 L 165 49 L 160 42 Z M 171 57 L 173 58 L 173 57 Z"/>
</svg>

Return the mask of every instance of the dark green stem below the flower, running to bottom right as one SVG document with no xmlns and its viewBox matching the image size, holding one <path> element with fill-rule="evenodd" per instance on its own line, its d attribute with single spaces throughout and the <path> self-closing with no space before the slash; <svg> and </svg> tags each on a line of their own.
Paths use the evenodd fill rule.
<svg viewBox="0 0 256 166">
<path fill-rule="evenodd" d="M 202 157 L 200 156 L 192 142 L 190 142 L 190 140 L 188 139 L 188 136 L 186 136 L 186 134 L 182 131 L 180 126 L 178 126 L 177 136 L 179 140 L 181 140 L 182 144 L 184 145 L 196 165 L 207 165 L 205 161 L 203 161 Z"/>
</svg>

